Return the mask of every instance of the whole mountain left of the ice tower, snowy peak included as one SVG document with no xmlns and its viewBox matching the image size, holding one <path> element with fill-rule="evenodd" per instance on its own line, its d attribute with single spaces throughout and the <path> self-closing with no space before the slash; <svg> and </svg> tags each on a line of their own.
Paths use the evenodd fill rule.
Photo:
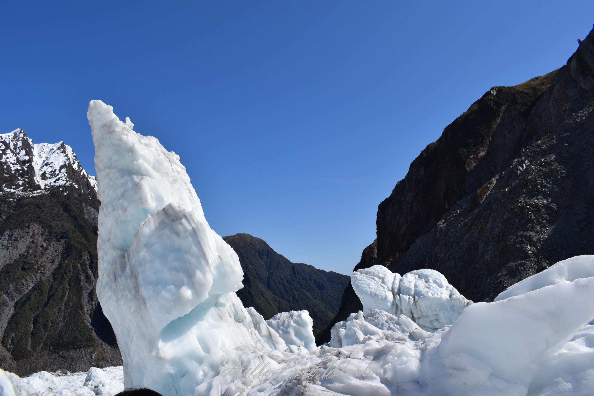
<svg viewBox="0 0 594 396">
<path fill-rule="evenodd" d="M 95 293 L 95 180 L 64 142 L 0 135 L 0 365 L 19 375 L 121 364 Z"/>
</svg>

